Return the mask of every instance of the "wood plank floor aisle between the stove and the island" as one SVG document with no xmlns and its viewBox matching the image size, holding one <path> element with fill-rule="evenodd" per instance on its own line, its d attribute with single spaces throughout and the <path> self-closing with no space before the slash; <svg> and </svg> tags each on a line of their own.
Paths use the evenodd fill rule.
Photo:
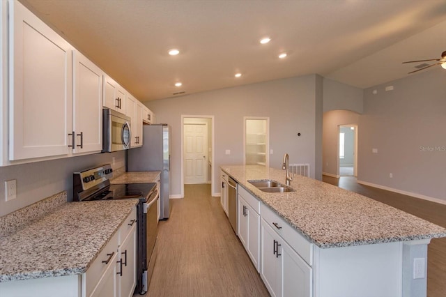
<svg viewBox="0 0 446 297">
<path fill-rule="evenodd" d="M 171 203 L 145 296 L 270 296 L 210 185 L 185 185 Z"/>
</svg>

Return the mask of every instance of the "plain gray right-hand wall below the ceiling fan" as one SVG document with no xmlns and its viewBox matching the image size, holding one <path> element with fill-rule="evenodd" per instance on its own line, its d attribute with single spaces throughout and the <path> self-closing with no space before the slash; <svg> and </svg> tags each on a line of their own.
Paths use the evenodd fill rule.
<svg viewBox="0 0 446 297">
<path fill-rule="evenodd" d="M 358 181 L 446 200 L 445 82 L 436 67 L 364 90 Z"/>
</svg>

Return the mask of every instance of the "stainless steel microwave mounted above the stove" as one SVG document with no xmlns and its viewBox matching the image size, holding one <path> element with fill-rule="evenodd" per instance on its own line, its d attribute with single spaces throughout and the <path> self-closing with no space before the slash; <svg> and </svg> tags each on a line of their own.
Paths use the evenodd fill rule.
<svg viewBox="0 0 446 297">
<path fill-rule="evenodd" d="M 112 109 L 102 109 L 102 153 L 130 148 L 130 118 Z"/>
</svg>

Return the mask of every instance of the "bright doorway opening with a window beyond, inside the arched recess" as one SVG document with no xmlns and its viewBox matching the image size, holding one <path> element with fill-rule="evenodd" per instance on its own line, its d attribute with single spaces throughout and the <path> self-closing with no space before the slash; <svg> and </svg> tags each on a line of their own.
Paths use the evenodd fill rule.
<svg viewBox="0 0 446 297">
<path fill-rule="evenodd" d="M 339 125 L 339 176 L 357 176 L 357 125 Z"/>
</svg>

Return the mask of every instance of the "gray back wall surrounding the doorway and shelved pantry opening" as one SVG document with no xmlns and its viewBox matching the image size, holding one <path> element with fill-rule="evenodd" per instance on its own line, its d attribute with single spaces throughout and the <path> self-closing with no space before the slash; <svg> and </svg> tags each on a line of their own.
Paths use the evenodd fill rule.
<svg viewBox="0 0 446 297">
<path fill-rule="evenodd" d="M 181 115 L 215 116 L 214 194 L 220 192 L 220 165 L 243 164 L 243 116 L 270 117 L 270 167 L 281 168 L 284 153 L 290 162 L 310 163 L 315 176 L 322 148 L 322 79 L 305 75 L 259 84 L 144 102 L 158 123 L 171 125 L 171 194 L 181 193 Z M 316 119 L 316 114 L 318 118 Z M 301 136 L 298 137 L 298 132 Z M 231 155 L 225 155 L 230 149 Z M 321 172 L 321 169 L 318 169 Z M 318 173 L 317 178 L 321 178 Z"/>
</svg>

